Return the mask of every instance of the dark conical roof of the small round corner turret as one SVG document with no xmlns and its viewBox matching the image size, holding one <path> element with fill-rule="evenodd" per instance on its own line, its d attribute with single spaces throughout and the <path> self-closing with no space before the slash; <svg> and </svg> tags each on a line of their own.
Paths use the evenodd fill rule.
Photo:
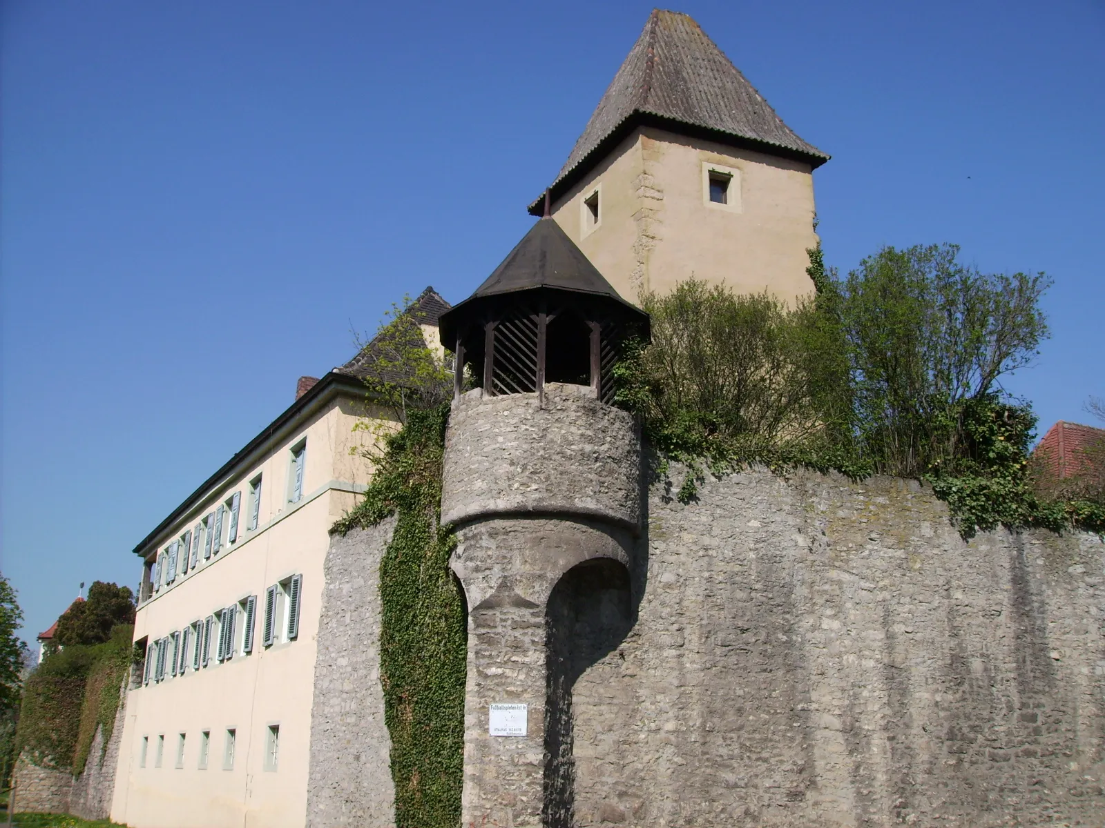
<svg viewBox="0 0 1105 828">
<path fill-rule="evenodd" d="M 646 314 L 618 295 L 560 225 L 546 216 L 529 229 L 472 296 L 441 315 L 441 341 L 451 347 L 457 319 L 470 312 L 474 304 L 536 288 L 603 297 L 617 302 L 629 316 L 648 320 Z"/>
</svg>

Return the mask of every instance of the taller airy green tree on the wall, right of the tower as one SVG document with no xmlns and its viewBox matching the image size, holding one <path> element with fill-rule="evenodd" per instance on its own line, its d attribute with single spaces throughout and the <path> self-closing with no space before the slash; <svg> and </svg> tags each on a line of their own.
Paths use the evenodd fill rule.
<svg viewBox="0 0 1105 828">
<path fill-rule="evenodd" d="M 964 404 L 1027 365 L 1049 336 L 1043 274 L 983 274 L 958 253 L 884 247 L 840 284 L 855 428 L 877 471 L 919 477 L 959 456 Z"/>
</svg>

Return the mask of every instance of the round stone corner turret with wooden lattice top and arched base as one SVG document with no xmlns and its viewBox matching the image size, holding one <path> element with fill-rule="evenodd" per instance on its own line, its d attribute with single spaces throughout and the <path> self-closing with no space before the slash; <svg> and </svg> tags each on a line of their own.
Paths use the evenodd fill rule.
<svg viewBox="0 0 1105 828">
<path fill-rule="evenodd" d="M 442 521 L 469 603 L 462 824 L 569 825 L 571 686 L 631 614 L 640 436 L 609 369 L 648 317 L 550 217 L 442 316 L 457 393 Z"/>
</svg>

